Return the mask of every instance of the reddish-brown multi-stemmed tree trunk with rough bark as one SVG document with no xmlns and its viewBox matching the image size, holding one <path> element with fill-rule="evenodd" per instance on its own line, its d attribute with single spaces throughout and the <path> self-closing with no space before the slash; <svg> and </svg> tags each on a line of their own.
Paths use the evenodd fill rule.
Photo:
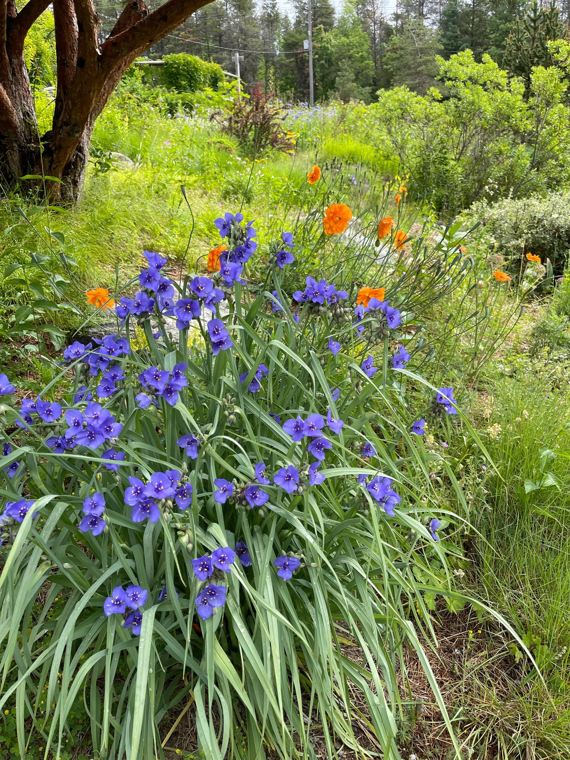
<svg viewBox="0 0 570 760">
<path fill-rule="evenodd" d="M 46 177 L 49 198 L 73 203 L 84 185 L 93 126 L 122 74 L 211 0 L 168 0 L 153 13 L 143 0 L 131 0 L 101 46 L 93 0 L 53 0 L 57 90 L 52 128 L 40 136 L 24 40 L 49 2 L 29 0 L 18 13 L 14 0 L 0 0 L 0 182 L 9 190 L 24 176 Z"/>
</svg>

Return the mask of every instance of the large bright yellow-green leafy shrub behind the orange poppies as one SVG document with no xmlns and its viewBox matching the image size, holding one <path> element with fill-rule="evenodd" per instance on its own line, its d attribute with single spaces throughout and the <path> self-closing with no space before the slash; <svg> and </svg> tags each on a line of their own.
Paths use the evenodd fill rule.
<svg viewBox="0 0 570 760">
<path fill-rule="evenodd" d="M 407 87 L 381 90 L 364 116 L 369 140 L 398 157 L 409 190 L 451 214 L 473 201 L 557 188 L 568 176 L 570 131 L 565 84 L 556 68 L 534 68 L 533 97 L 524 85 L 470 50 L 439 59 L 448 95 Z"/>
</svg>

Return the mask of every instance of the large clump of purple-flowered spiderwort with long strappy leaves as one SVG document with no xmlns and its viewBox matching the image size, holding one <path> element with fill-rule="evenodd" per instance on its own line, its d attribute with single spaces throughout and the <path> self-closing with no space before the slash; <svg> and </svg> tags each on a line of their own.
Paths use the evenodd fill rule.
<svg viewBox="0 0 570 760">
<path fill-rule="evenodd" d="M 2 407 L 0 707 L 15 704 L 21 755 L 30 722 L 59 755 L 80 695 L 107 758 L 156 756 L 166 714 L 185 707 L 207 758 L 238 757 L 244 740 L 250 756 L 269 743 L 302 757 L 314 724 L 332 756 L 337 737 L 358 749 L 356 689 L 399 758 L 396 654 L 421 654 L 413 621 L 449 593 L 447 505 L 464 504 L 404 403 L 407 379 L 423 385 L 407 328 L 421 291 L 434 303 L 464 269 L 439 249 L 416 287 L 390 234 L 391 305 L 367 289 L 351 318 L 339 280 L 308 278 L 290 308 L 282 277 L 299 249 L 288 233 L 268 245 L 252 292 L 241 220 L 216 220 L 230 252 L 220 271 L 212 252 L 211 278 L 175 283 L 145 252 L 142 290 L 114 296 L 116 333 L 74 341 L 36 401 Z M 434 432 L 461 424 L 452 394 L 426 388 Z"/>
</svg>

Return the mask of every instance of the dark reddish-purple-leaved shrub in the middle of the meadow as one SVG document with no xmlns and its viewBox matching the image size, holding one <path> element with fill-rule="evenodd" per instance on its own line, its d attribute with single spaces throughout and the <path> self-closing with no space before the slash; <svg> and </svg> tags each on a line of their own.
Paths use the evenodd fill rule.
<svg viewBox="0 0 570 760">
<path fill-rule="evenodd" d="M 272 97 L 265 95 L 258 82 L 249 97 L 237 97 L 225 112 L 214 112 L 212 119 L 237 138 L 249 154 L 262 154 L 266 150 L 293 153 L 293 135 L 287 132 L 280 106 Z"/>
</svg>

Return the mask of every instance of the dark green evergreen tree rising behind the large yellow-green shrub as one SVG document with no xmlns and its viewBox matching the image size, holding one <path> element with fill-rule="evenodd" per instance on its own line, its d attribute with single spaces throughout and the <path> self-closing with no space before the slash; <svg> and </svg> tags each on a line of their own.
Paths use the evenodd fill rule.
<svg viewBox="0 0 570 760">
<path fill-rule="evenodd" d="M 549 40 L 562 40 L 564 37 L 564 24 L 554 0 L 551 0 L 548 8 L 541 8 L 537 0 L 534 0 L 522 20 L 517 17 L 512 24 L 505 45 L 503 65 L 511 76 L 522 78 L 527 97 L 530 94 L 530 74 L 533 66 L 553 65 L 547 43 Z"/>
</svg>

